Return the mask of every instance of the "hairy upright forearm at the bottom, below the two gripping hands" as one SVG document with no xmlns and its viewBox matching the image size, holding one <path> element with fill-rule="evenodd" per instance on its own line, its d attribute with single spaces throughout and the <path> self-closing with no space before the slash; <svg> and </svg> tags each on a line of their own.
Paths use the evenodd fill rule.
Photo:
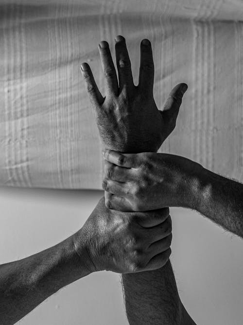
<svg viewBox="0 0 243 325">
<path fill-rule="evenodd" d="M 182 324 L 182 304 L 170 261 L 154 271 L 123 274 L 130 325 Z"/>
</svg>

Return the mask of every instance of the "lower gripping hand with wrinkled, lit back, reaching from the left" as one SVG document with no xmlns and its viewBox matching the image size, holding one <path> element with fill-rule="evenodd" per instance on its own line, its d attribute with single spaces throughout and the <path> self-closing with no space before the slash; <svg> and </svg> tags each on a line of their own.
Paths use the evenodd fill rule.
<svg viewBox="0 0 243 325">
<path fill-rule="evenodd" d="M 169 260 L 171 231 L 168 208 L 124 213 L 107 209 L 103 197 L 83 228 L 74 234 L 74 246 L 79 253 L 79 247 L 85 245 L 90 272 L 154 270 Z"/>
</svg>

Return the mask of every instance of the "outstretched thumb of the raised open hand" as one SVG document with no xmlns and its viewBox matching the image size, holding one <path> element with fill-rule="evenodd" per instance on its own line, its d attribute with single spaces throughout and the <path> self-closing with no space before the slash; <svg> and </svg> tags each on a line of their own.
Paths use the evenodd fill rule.
<svg viewBox="0 0 243 325">
<path fill-rule="evenodd" d="M 185 88 L 182 90 L 184 86 Z M 168 96 L 162 110 L 162 116 L 165 120 L 165 123 L 171 123 L 172 121 L 175 123 L 177 115 L 179 113 L 179 108 L 182 103 L 182 97 L 187 88 L 187 84 L 180 83 L 176 85 L 170 92 L 170 95 Z"/>
</svg>

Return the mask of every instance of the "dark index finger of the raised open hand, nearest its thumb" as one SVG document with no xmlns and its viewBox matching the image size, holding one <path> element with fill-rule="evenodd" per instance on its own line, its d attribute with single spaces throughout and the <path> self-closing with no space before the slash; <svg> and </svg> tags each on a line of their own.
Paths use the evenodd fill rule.
<svg viewBox="0 0 243 325">
<path fill-rule="evenodd" d="M 148 39 L 140 44 L 139 90 L 147 96 L 153 96 L 155 66 L 152 46 Z"/>
</svg>

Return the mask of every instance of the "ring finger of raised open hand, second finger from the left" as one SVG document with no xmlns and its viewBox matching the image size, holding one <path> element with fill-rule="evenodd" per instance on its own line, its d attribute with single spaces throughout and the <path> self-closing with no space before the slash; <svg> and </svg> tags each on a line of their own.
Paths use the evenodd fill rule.
<svg viewBox="0 0 243 325">
<path fill-rule="evenodd" d="M 116 69 L 111 57 L 109 44 L 106 41 L 101 41 L 99 46 L 101 65 L 104 72 L 105 93 L 118 96 L 118 81 Z"/>
</svg>

